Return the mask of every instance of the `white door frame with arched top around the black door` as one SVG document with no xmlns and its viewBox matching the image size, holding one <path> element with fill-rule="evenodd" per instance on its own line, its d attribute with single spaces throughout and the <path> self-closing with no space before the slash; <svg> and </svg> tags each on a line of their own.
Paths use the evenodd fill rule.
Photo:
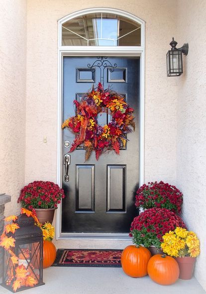
<svg viewBox="0 0 206 294">
<path fill-rule="evenodd" d="M 62 24 L 74 17 L 89 13 L 109 12 L 130 18 L 141 24 L 141 46 L 62 46 Z M 90 8 L 71 13 L 58 21 L 58 131 L 57 131 L 57 184 L 62 185 L 62 61 L 64 56 L 139 56 L 140 57 L 140 109 L 139 109 L 139 185 L 144 183 L 144 72 L 145 22 L 137 16 L 114 8 Z M 56 212 L 56 239 L 112 238 L 128 239 L 128 234 L 61 233 L 61 205 Z"/>
</svg>

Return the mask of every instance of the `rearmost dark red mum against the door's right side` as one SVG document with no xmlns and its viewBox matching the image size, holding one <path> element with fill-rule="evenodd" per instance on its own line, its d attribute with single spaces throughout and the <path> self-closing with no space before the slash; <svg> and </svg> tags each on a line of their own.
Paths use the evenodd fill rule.
<svg viewBox="0 0 206 294">
<path fill-rule="evenodd" d="M 135 205 L 142 208 L 167 208 L 173 212 L 181 212 L 183 194 L 175 186 L 164 182 L 142 185 L 136 194 Z"/>
</svg>

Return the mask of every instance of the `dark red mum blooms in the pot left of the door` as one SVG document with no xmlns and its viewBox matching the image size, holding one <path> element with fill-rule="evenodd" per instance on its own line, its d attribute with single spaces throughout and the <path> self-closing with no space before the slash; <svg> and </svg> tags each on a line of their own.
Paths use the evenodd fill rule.
<svg viewBox="0 0 206 294">
<path fill-rule="evenodd" d="M 18 197 L 22 207 L 32 210 L 33 208 L 55 208 L 64 198 L 64 190 L 53 182 L 35 181 L 25 186 Z"/>
</svg>

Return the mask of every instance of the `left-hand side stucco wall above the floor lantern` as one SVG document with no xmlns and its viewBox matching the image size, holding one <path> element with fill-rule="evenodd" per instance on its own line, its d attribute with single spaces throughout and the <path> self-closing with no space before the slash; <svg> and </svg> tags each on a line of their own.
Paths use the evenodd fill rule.
<svg viewBox="0 0 206 294">
<path fill-rule="evenodd" d="M 26 0 L 0 1 L 0 193 L 11 195 L 5 215 L 19 213 L 24 185 Z"/>
</svg>

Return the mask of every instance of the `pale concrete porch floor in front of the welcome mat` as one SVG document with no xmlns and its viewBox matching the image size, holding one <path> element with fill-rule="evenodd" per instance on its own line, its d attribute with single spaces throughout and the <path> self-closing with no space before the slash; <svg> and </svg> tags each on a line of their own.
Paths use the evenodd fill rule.
<svg viewBox="0 0 206 294">
<path fill-rule="evenodd" d="M 148 276 L 130 278 L 121 268 L 50 267 L 43 272 L 44 286 L 24 294 L 206 294 L 195 278 L 170 286 L 154 283 Z M 10 291 L 0 286 L 0 294 Z"/>
</svg>

